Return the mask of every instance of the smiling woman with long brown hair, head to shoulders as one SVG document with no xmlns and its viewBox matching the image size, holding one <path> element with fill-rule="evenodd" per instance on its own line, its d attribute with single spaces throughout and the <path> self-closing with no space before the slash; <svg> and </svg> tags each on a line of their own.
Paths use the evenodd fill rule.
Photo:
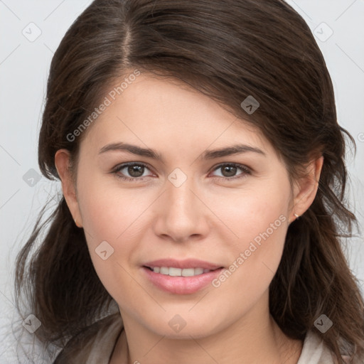
<svg viewBox="0 0 364 364">
<path fill-rule="evenodd" d="M 63 197 L 16 267 L 54 363 L 363 363 L 344 134 L 284 1 L 92 2 L 39 138 Z"/>
</svg>

